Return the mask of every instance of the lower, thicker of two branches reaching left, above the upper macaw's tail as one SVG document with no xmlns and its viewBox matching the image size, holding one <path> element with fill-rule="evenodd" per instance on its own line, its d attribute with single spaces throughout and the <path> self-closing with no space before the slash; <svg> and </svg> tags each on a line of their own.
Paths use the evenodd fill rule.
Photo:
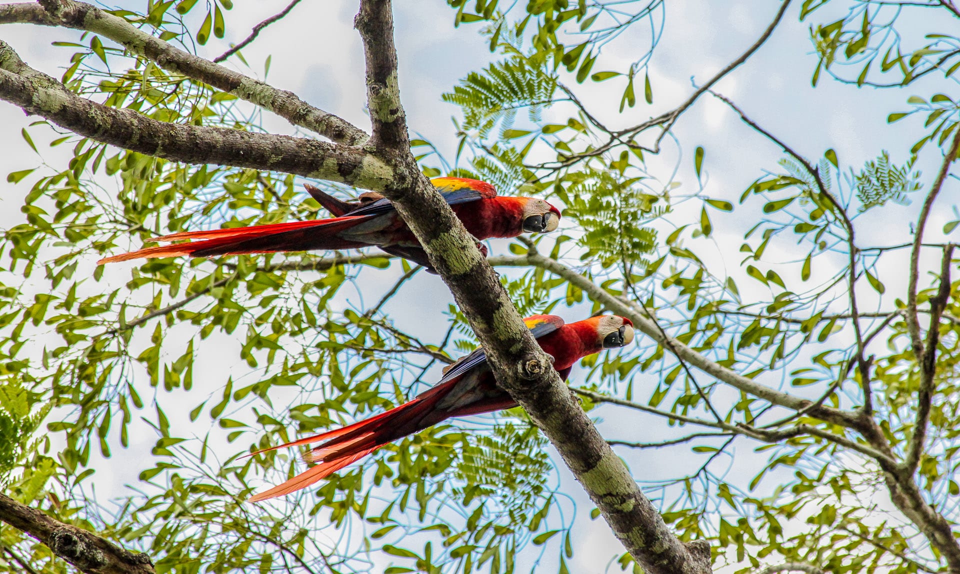
<svg viewBox="0 0 960 574">
<path fill-rule="evenodd" d="M 3 40 L 0 99 L 90 139 L 173 161 L 279 171 L 368 189 L 383 188 L 393 177 L 390 167 L 359 148 L 288 135 L 169 124 L 132 109 L 96 104 L 26 65 Z"/>
</svg>

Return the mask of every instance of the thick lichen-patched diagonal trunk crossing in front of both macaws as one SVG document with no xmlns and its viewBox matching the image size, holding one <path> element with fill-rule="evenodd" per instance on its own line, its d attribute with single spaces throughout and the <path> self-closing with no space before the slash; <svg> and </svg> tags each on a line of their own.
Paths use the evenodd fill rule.
<svg viewBox="0 0 960 574">
<path fill-rule="evenodd" d="M 667 528 L 553 370 L 463 224 L 420 173 L 399 102 L 391 10 L 389 0 L 361 0 L 354 21 L 367 57 L 371 143 L 394 168 L 383 194 L 467 315 L 498 384 L 557 447 L 627 551 L 651 574 L 709 572 L 708 545 L 684 544 Z"/>
</svg>

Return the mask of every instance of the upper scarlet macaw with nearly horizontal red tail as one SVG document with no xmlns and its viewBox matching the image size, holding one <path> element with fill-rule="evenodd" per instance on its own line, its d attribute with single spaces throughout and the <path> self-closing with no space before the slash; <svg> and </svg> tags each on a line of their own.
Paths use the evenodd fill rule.
<svg viewBox="0 0 960 574">
<path fill-rule="evenodd" d="M 490 183 L 477 179 L 437 178 L 433 184 L 444 195 L 467 230 L 482 241 L 492 237 L 516 237 L 524 231 L 553 231 L 560 224 L 560 210 L 535 198 L 501 197 Z M 184 231 L 152 241 L 191 240 L 105 257 L 98 264 L 139 257 L 210 257 L 276 251 L 348 250 L 376 246 L 432 270 L 426 251 L 396 213 L 393 203 L 377 193 L 365 193 L 359 202 L 348 203 L 325 194 L 312 185 L 307 191 L 336 217 L 252 227 L 209 231 Z M 196 240 L 196 241 L 194 241 Z M 486 248 L 479 246 L 486 254 Z"/>
</svg>

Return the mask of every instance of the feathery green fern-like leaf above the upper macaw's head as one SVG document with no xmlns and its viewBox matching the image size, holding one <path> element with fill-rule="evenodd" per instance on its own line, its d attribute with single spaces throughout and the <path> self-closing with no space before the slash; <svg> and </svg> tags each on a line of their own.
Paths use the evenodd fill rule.
<svg viewBox="0 0 960 574">
<path fill-rule="evenodd" d="M 556 77 L 515 58 L 495 62 L 479 73 L 470 72 L 443 98 L 463 108 L 464 131 L 476 130 L 487 137 L 497 125 L 501 131 L 509 130 L 518 109 L 528 108 L 536 119 L 540 108 L 552 101 L 556 88 Z"/>
</svg>

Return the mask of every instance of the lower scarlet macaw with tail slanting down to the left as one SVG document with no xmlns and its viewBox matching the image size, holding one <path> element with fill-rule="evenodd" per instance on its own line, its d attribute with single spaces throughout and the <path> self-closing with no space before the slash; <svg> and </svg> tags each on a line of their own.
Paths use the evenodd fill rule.
<svg viewBox="0 0 960 574">
<path fill-rule="evenodd" d="M 535 315 L 524 320 L 540 347 L 554 359 L 554 369 L 566 380 L 580 359 L 604 348 L 624 347 L 634 340 L 634 323 L 608 315 L 564 324 L 555 315 Z M 299 441 L 258 450 L 252 455 L 284 446 L 323 442 L 306 455 L 317 463 L 282 485 L 260 492 L 251 502 L 267 500 L 304 489 L 372 453 L 377 448 L 433 426 L 451 417 L 466 417 L 516 407 L 514 399 L 496 386 L 487 355 L 478 348 L 444 370 L 437 386 L 413 400 L 371 419 Z"/>
</svg>

